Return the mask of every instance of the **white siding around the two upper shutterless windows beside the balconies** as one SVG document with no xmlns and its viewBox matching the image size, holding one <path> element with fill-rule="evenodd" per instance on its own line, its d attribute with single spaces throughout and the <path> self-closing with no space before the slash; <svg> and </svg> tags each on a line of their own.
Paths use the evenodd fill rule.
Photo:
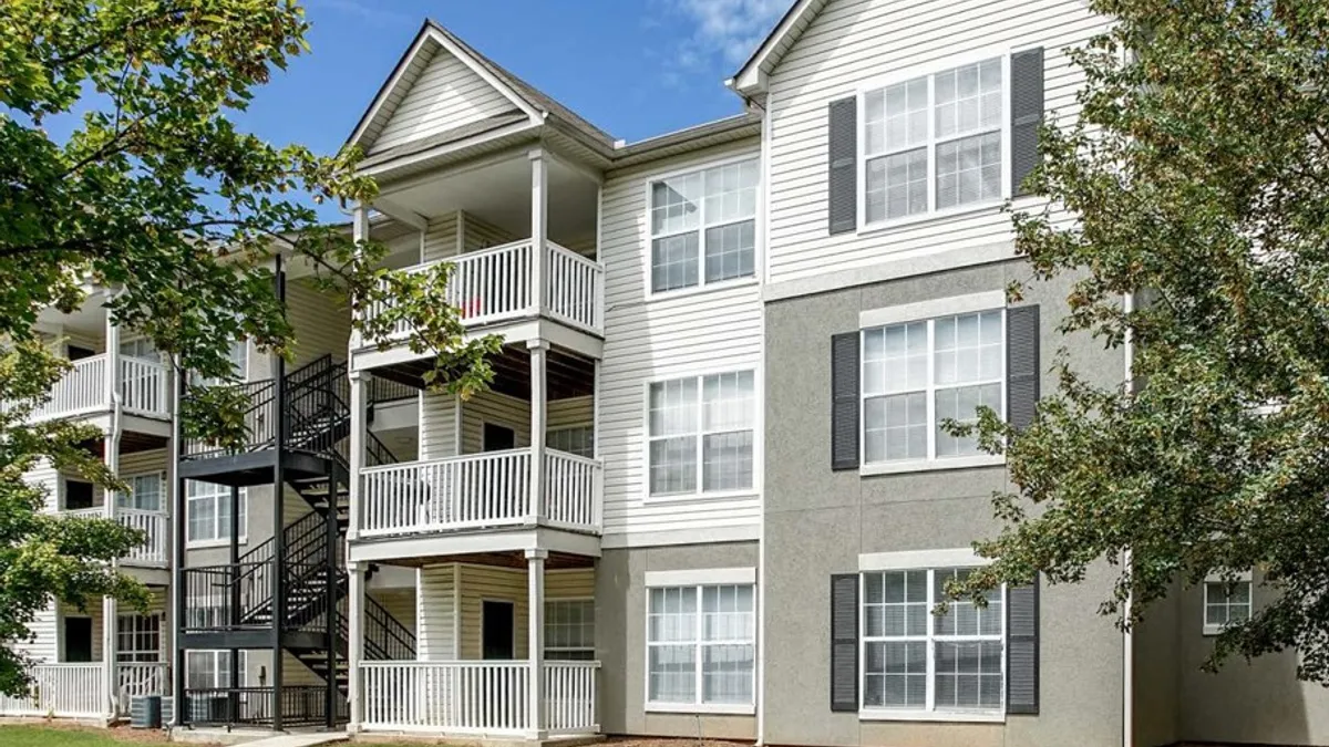
<svg viewBox="0 0 1329 747">
<path fill-rule="evenodd" d="M 647 182 L 662 174 L 758 153 L 759 144 L 754 138 L 615 171 L 605 182 L 601 206 L 605 355 L 595 439 L 605 463 L 606 536 L 756 526 L 760 522 L 758 490 L 738 498 L 645 500 L 647 384 L 702 372 L 758 370 L 762 362 L 762 300 L 760 286 L 755 282 L 707 292 L 646 298 Z M 760 207 L 758 215 L 762 215 Z M 760 267 L 760 219 L 758 235 Z M 762 391 L 760 381 L 756 389 Z M 760 412 L 760 403 L 756 408 Z M 760 463 L 755 473 L 762 473 Z"/>
</svg>

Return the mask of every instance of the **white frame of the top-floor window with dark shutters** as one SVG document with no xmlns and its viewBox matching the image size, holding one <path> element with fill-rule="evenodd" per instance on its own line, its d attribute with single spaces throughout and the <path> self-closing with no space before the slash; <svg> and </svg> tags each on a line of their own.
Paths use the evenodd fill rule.
<svg viewBox="0 0 1329 747">
<path fill-rule="evenodd" d="M 886 76 L 873 78 L 864 82 L 855 92 L 857 97 L 857 112 L 859 117 L 855 122 L 857 128 L 855 132 L 855 141 L 857 148 L 857 162 L 855 165 L 857 173 L 857 207 L 859 207 L 859 234 L 870 234 L 882 229 L 894 229 L 897 226 L 906 226 L 910 223 L 920 223 L 925 221 L 936 221 L 950 218 L 954 215 L 964 215 L 966 213 L 975 213 L 983 210 L 991 210 L 993 207 L 999 207 L 1006 199 L 1010 199 L 1010 48 L 987 48 L 978 52 L 968 54 L 957 54 L 954 57 L 946 57 L 938 62 L 930 64 L 921 68 L 909 68 L 905 70 L 898 70 Z M 937 114 L 936 114 L 936 77 L 937 73 L 945 73 L 954 68 L 964 68 L 966 65 L 973 65 L 975 62 L 983 62 L 986 60 L 999 58 L 1002 65 L 1002 117 L 1001 117 L 1001 197 L 997 199 L 986 199 L 978 202 L 970 202 L 966 205 L 957 205 L 953 207 L 946 207 L 937 210 L 937 144 L 952 142 L 956 140 L 962 140 L 969 137 L 966 134 L 952 133 L 945 138 L 937 137 Z M 914 150 L 916 148 L 928 149 L 928 210 L 917 215 L 905 215 L 901 218 L 888 218 L 876 222 L 868 222 L 868 161 L 872 158 L 885 157 L 890 152 L 882 152 L 876 154 L 868 154 L 868 138 L 867 138 L 867 96 L 869 93 L 877 92 L 884 88 L 889 88 L 896 84 L 905 81 L 912 81 L 916 78 L 928 77 L 928 142 L 922 146 L 914 146 L 906 150 Z M 983 130 L 987 132 L 987 130 Z M 978 134 L 978 132 L 970 133 Z"/>
</svg>

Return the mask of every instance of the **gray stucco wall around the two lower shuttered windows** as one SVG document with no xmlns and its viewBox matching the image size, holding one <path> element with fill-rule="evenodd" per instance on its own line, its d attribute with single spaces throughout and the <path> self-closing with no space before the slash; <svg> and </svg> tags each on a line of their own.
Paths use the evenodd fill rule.
<svg viewBox="0 0 1329 747">
<path fill-rule="evenodd" d="M 966 548 L 998 529 L 990 496 L 1003 468 L 863 477 L 831 471 L 831 336 L 859 328 L 859 312 L 1003 290 L 1027 280 L 1010 262 L 916 276 L 767 304 L 766 367 L 766 727 L 772 744 L 1122 743 L 1122 634 L 1096 614 L 1104 565 L 1078 586 L 1043 589 L 1041 714 L 1005 724 L 860 722 L 829 710 L 829 577 L 859 570 L 860 553 Z M 1066 346 L 1103 381 L 1119 381 L 1120 352 L 1054 330 L 1067 286 L 1034 286 L 1043 363 Z M 1045 374 L 1043 392 L 1055 381 Z"/>
</svg>

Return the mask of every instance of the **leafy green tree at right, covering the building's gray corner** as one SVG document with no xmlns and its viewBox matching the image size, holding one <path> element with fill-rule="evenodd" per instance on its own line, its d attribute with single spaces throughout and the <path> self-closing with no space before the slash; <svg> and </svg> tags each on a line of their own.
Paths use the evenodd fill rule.
<svg viewBox="0 0 1329 747">
<path fill-rule="evenodd" d="M 1015 241 L 1035 278 L 1076 278 L 1061 330 L 1134 343 L 1136 381 L 1059 358 L 1027 429 L 982 413 L 1015 489 L 978 545 L 995 562 L 953 591 L 1106 558 L 1102 611 L 1128 626 L 1175 582 L 1257 568 L 1277 601 L 1208 666 L 1296 647 L 1329 682 L 1329 5 L 1091 5 L 1119 23 L 1073 52 L 1082 109 L 1043 128 L 1027 183 L 1050 202 Z"/>
</svg>

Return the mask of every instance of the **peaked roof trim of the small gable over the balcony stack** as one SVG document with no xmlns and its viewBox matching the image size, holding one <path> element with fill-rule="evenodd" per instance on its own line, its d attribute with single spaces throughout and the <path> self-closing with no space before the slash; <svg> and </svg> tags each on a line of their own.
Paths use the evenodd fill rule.
<svg viewBox="0 0 1329 747">
<path fill-rule="evenodd" d="M 502 93 L 512 101 L 512 112 L 514 114 L 525 114 L 530 118 L 532 125 L 554 120 L 556 124 L 565 125 L 582 140 L 589 141 L 587 145 L 603 153 L 613 152 L 614 138 L 609 133 L 587 122 L 567 106 L 563 106 L 536 86 L 485 57 L 432 19 L 427 19 L 421 24 L 411 47 L 407 48 L 407 52 L 392 69 L 392 74 L 388 76 L 387 81 L 384 81 L 383 86 L 375 94 L 373 102 L 355 125 L 351 137 L 347 138 L 347 145 L 360 145 L 365 149 L 372 145 L 384 125 L 392 118 L 396 106 L 440 48 L 459 58 L 484 78 L 485 82 Z M 449 133 L 437 133 L 436 137 L 447 140 L 448 136 Z"/>
</svg>

